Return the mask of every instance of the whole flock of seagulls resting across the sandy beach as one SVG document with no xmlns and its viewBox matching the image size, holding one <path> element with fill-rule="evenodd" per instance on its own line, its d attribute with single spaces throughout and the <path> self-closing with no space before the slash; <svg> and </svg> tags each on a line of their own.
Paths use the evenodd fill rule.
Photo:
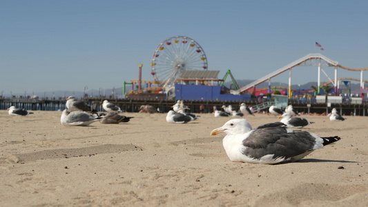
<svg viewBox="0 0 368 207">
<path fill-rule="evenodd" d="M 77 101 L 73 96 L 68 97 L 67 109 L 61 114 L 61 124 L 64 126 L 88 126 L 96 121 L 101 124 L 119 124 L 133 118 L 119 115 L 119 112 L 122 112 L 121 108 L 107 100 L 102 103 L 102 106 L 107 114 L 98 114 L 91 110 L 84 101 Z M 166 115 L 168 123 L 186 124 L 199 117 L 192 114 L 190 108 L 185 106 L 183 101 L 177 101 L 172 108 L 173 110 L 169 110 Z M 9 115 L 26 116 L 32 114 L 32 112 L 14 106 L 8 110 Z M 140 110 L 148 114 L 157 112 L 157 109 L 149 105 L 141 106 Z M 298 113 L 293 110 L 291 105 L 287 106 L 285 110 L 271 106 L 269 112 L 279 116 L 281 120 L 252 128 L 245 118 L 230 119 L 226 121 L 224 126 L 212 130 L 211 135 L 226 134 L 222 139 L 222 144 L 231 161 L 253 164 L 280 164 L 298 161 L 314 150 L 321 149 L 341 139 L 338 136 L 321 137 L 304 130 L 292 130 L 291 128 L 309 126 L 313 122 L 301 117 L 294 117 Z M 253 112 L 246 107 L 245 103 L 241 103 L 239 110 L 233 110 L 231 106 L 222 106 L 222 110 L 214 108 L 214 115 L 215 117 L 246 117 L 253 115 Z M 333 108 L 329 119 L 331 121 L 345 120 L 336 108 Z"/>
</svg>

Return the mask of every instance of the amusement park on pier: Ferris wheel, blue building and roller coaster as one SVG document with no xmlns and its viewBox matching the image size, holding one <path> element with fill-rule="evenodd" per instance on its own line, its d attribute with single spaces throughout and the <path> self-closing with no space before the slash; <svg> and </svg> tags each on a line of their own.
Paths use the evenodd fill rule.
<svg viewBox="0 0 368 207">
<path fill-rule="evenodd" d="M 335 95 L 337 96 L 340 88 L 339 81 L 342 80 L 360 81 L 361 90 L 364 90 L 364 83 L 368 82 L 362 78 L 363 71 L 368 70 L 368 68 L 347 68 L 341 66 L 337 61 L 332 61 L 316 53 L 306 55 L 246 86 L 239 87 L 230 70 L 227 70 L 223 79 L 217 78 L 220 71 L 208 70 L 206 54 L 199 43 L 189 37 L 177 36 L 162 41 L 153 52 L 151 59 L 151 75 L 153 76 L 153 81 L 142 81 L 142 64 L 139 64 L 139 79 L 132 80 L 130 83 L 124 81 L 123 90 L 126 97 L 154 93 L 164 95 L 164 99 L 224 99 L 244 101 L 251 97 L 251 94 L 254 95 L 257 90 L 260 90 L 256 89 L 256 86 L 266 81 L 269 81 L 268 92 L 272 93 L 271 79 L 283 72 L 289 71 L 289 87 L 284 89 L 286 89 L 286 94 L 290 98 L 293 94 L 291 90 L 291 72 L 296 66 L 318 66 L 318 86 L 316 88 L 318 94 L 322 86 L 332 84 L 335 89 Z M 335 74 L 333 80 L 328 77 L 322 66 L 334 68 Z M 360 71 L 360 79 L 338 78 L 338 68 Z M 329 82 L 321 84 L 321 72 L 326 75 Z M 228 90 L 226 95 L 226 92 L 224 92 L 224 83 L 229 76 L 233 82 L 233 89 Z M 141 88 L 142 83 L 146 83 L 146 88 Z M 217 83 L 217 86 L 214 83 Z M 126 93 L 126 84 L 132 85 L 132 90 L 128 93 Z M 137 90 L 134 88 L 135 84 L 137 84 Z M 155 85 L 155 87 L 152 87 L 152 85 Z M 274 87 L 273 92 L 275 89 L 276 87 Z M 210 93 L 211 95 L 209 95 Z"/>
</svg>

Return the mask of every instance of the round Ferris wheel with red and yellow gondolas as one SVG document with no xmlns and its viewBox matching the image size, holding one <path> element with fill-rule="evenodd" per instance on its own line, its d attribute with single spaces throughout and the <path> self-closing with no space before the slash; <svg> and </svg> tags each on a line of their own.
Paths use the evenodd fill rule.
<svg viewBox="0 0 368 207">
<path fill-rule="evenodd" d="M 151 75 L 158 86 L 172 87 L 184 70 L 207 70 L 207 58 L 199 43 L 177 36 L 159 43 L 151 61 Z"/>
</svg>

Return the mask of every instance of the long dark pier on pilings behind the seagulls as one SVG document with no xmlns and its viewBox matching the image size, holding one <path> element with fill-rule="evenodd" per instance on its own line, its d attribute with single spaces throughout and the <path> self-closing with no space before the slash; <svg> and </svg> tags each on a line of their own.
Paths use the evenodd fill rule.
<svg viewBox="0 0 368 207">
<path fill-rule="evenodd" d="M 104 111 L 102 108 L 102 102 L 108 100 L 110 103 L 114 103 L 119 106 L 125 112 L 139 112 L 139 108 L 142 105 L 151 105 L 159 109 L 159 112 L 168 112 L 172 109 L 172 106 L 176 103 L 175 100 L 155 100 L 155 99 L 101 99 L 101 98 L 87 98 L 84 101 L 91 106 L 91 108 L 97 111 Z M 265 100 L 266 101 L 266 100 Z M 257 106 L 265 101 L 245 101 L 247 106 Z M 218 110 L 221 106 L 233 106 L 238 109 L 242 101 L 184 101 L 184 104 L 191 108 L 191 112 L 200 113 L 200 106 L 204 106 L 204 112 L 213 112 L 213 107 L 216 106 Z M 358 103 L 331 103 L 328 106 L 327 103 L 301 103 L 299 101 L 289 100 L 288 104 L 293 105 L 293 108 L 298 112 L 304 112 L 304 114 L 317 113 L 328 114 L 332 108 L 338 109 L 338 111 L 345 116 L 357 115 L 367 116 L 368 104 L 363 102 Z M 6 110 L 10 106 L 16 108 L 24 108 L 26 110 L 64 110 L 66 109 L 65 99 L 0 99 L 0 110 Z M 267 108 L 263 110 L 267 111 Z"/>
</svg>

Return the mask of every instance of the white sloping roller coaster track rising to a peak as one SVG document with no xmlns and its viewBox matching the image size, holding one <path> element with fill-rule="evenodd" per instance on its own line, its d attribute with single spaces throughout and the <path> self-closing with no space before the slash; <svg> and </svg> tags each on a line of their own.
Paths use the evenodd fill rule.
<svg viewBox="0 0 368 207">
<path fill-rule="evenodd" d="M 291 68 L 294 68 L 296 66 L 337 66 L 339 68 L 342 68 L 344 70 L 351 70 L 351 71 L 362 71 L 362 70 L 368 70 L 368 68 L 360 68 L 360 69 L 354 69 L 354 68 L 347 68 L 344 66 L 341 66 L 336 61 L 332 61 L 331 59 L 325 57 L 324 55 L 321 55 L 320 53 L 311 53 L 309 55 L 306 55 L 296 61 L 293 61 L 292 63 L 289 63 L 287 66 L 284 66 L 278 70 L 275 70 L 274 72 L 271 72 L 269 75 L 266 75 L 264 77 L 261 77 L 260 79 L 253 81 L 249 83 L 246 86 L 243 86 L 238 90 L 237 92 L 244 92 L 246 90 L 249 90 L 249 88 L 255 88 L 255 86 L 258 86 L 260 83 L 263 83 L 265 81 L 268 81 L 269 79 L 276 77 L 280 75 L 282 72 L 285 72 L 287 70 L 290 70 Z M 347 79 L 347 78 L 345 78 Z M 356 80 L 356 79 L 351 79 Z"/>
</svg>

